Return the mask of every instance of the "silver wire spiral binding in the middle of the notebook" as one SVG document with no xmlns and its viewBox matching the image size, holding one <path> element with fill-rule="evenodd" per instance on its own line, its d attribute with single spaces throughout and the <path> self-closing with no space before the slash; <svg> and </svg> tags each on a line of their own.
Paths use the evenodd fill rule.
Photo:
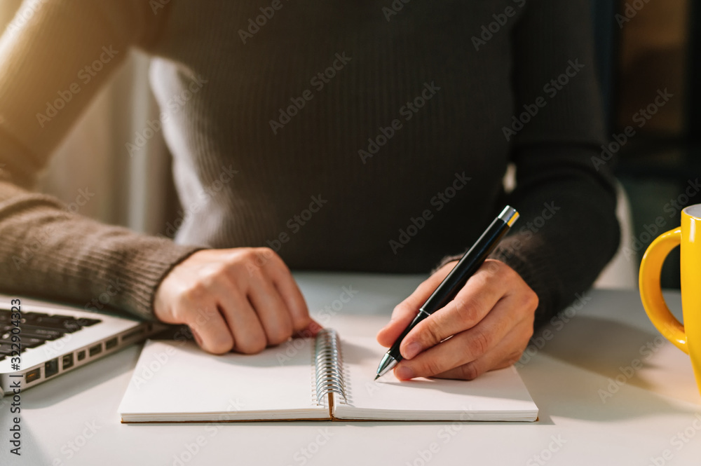
<svg viewBox="0 0 701 466">
<path fill-rule="evenodd" d="M 348 403 L 346 379 L 343 376 L 341 341 L 334 329 L 322 329 L 316 336 L 314 347 L 316 375 L 316 399 L 320 404 L 335 393 Z"/>
</svg>

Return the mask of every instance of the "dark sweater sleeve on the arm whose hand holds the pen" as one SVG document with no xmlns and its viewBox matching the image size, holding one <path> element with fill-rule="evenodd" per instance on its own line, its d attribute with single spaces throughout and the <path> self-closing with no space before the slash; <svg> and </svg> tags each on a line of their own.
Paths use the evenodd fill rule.
<svg viewBox="0 0 701 466">
<path fill-rule="evenodd" d="M 491 257 L 538 294 L 536 325 L 590 288 L 619 242 L 589 2 L 529 0 L 512 32 L 516 165 L 506 202 L 520 218 Z M 525 106 L 525 107 L 524 107 Z M 455 257 L 447 257 L 445 263 Z"/>
</svg>

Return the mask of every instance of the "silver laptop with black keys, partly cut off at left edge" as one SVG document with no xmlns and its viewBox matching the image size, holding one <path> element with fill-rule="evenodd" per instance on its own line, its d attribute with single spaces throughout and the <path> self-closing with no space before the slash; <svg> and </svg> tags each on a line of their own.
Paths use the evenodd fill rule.
<svg viewBox="0 0 701 466">
<path fill-rule="evenodd" d="M 0 294 L 0 397 L 13 395 L 17 387 L 32 388 L 165 328 Z"/>
</svg>

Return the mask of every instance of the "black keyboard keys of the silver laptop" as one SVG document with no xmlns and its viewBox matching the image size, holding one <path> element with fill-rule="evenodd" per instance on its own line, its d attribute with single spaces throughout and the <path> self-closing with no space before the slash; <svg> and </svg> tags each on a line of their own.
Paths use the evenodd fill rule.
<svg viewBox="0 0 701 466">
<path fill-rule="evenodd" d="M 12 354 L 11 311 L 0 309 L 0 361 Z M 65 334 L 72 334 L 83 327 L 90 327 L 102 322 L 100 319 L 76 319 L 67 315 L 51 315 L 45 313 L 22 313 L 20 323 L 20 336 L 22 338 L 21 351 L 36 348 L 46 341 L 56 340 Z M 15 347 L 16 348 L 16 347 Z"/>
</svg>

